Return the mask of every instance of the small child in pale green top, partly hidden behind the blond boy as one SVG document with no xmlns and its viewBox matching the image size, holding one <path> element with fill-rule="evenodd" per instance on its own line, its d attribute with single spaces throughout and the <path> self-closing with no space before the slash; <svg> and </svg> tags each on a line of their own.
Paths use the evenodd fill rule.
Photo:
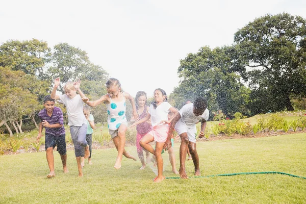
<svg viewBox="0 0 306 204">
<path fill-rule="evenodd" d="M 83 113 L 85 115 L 85 118 L 87 120 L 87 132 L 86 132 L 86 141 L 87 144 L 89 146 L 89 158 L 88 158 L 88 164 L 92 165 L 91 162 L 91 145 L 92 145 L 92 133 L 93 133 L 93 129 L 94 129 L 94 120 L 93 120 L 93 115 L 90 114 L 90 107 L 88 105 L 85 105 L 83 107 Z M 82 155 L 81 155 L 81 165 L 82 167 L 84 167 L 84 151 L 82 151 Z"/>
</svg>

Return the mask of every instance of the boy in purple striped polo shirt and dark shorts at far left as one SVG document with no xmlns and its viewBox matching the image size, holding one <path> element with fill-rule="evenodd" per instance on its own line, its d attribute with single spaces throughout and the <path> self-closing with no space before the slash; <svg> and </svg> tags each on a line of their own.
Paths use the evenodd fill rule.
<svg viewBox="0 0 306 204">
<path fill-rule="evenodd" d="M 54 104 L 55 100 L 50 95 L 46 95 L 43 98 L 44 109 L 38 113 L 41 122 L 39 123 L 38 136 L 36 137 L 37 142 L 39 142 L 44 127 L 46 157 L 50 169 L 50 173 L 47 175 L 48 178 L 55 176 L 53 149 L 56 145 L 57 151 L 61 155 L 64 173 L 69 172 L 66 166 L 66 135 L 63 112 L 60 108 L 55 107 Z"/>
</svg>

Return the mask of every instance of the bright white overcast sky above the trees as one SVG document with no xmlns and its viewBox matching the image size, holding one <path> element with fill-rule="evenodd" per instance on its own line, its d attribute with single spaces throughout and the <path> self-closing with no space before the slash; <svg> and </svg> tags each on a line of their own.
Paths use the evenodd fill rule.
<svg viewBox="0 0 306 204">
<path fill-rule="evenodd" d="M 52 48 L 66 42 L 133 96 L 140 90 L 151 96 L 156 88 L 169 95 L 189 53 L 231 45 L 248 22 L 283 12 L 306 18 L 306 1 L 10 0 L 1 3 L 0 43 L 36 38 Z"/>
</svg>

